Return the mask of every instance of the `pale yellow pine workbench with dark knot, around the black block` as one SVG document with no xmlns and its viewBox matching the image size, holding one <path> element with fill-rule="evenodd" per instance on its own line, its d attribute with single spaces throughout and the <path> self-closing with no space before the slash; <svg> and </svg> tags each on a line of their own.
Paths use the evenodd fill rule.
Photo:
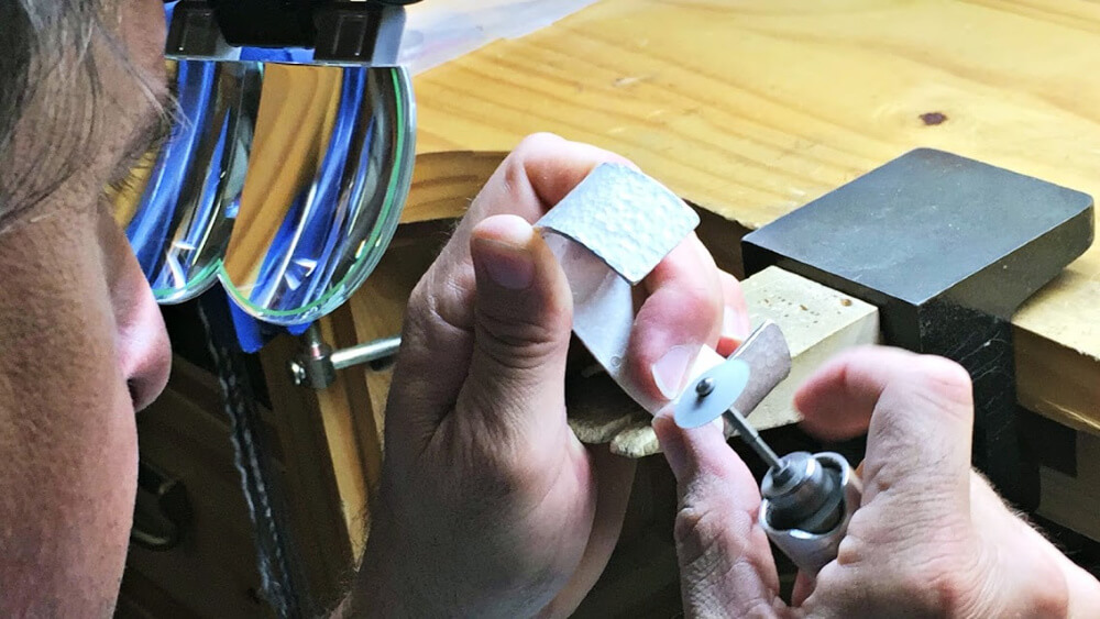
<svg viewBox="0 0 1100 619">
<path fill-rule="evenodd" d="M 917 146 L 1100 196 L 1098 54 L 1084 1 L 602 0 L 416 78 L 406 219 L 460 214 L 536 131 L 747 228 Z M 1100 247 L 1013 322 L 1020 401 L 1100 432 Z"/>
</svg>

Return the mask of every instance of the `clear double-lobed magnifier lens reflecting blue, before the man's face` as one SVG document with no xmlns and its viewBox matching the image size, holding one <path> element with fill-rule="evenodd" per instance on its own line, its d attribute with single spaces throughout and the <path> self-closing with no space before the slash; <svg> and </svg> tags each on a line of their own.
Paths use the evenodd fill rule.
<svg viewBox="0 0 1100 619">
<path fill-rule="evenodd" d="M 179 114 L 125 223 L 162 303 L 220 280 L 245 312 L 311 322 L 354 292 L 415 158 L 403 68 L 179 60 Z"/>
</svg>

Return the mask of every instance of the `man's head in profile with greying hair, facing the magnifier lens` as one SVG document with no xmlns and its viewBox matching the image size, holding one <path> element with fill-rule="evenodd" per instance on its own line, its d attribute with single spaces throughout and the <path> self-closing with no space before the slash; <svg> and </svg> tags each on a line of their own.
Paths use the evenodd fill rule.
<svg viewBox="0 0 1100 619">
<path fill-rule="evenodd" d="M 88 616 L 117 593 L 134 410 L 169 354 L 103 188 L 163 119 L 163 15 L 157 0 L 0 2 L 3 616 Z"/>
</svg>

